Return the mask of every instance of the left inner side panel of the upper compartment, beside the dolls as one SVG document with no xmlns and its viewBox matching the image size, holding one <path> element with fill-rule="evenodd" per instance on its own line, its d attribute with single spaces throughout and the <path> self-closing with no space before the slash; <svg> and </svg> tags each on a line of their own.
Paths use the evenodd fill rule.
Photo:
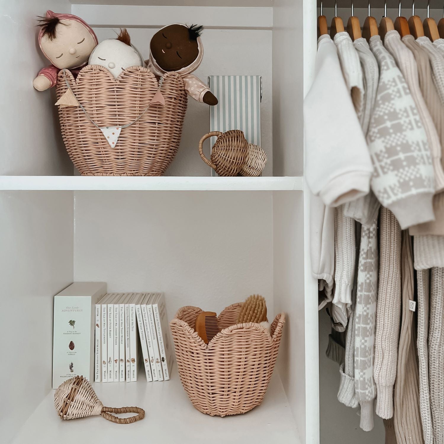
<svg viewBox="0 0 444 444">
<path fill-rule="evenodd" d="M 2 111 L 0 174 L 72 174 L 60 136 L 55 91 L 39 92 L 32 80 L 50 63 L 37 44 L 36 17 L 47 9 L 71 12 L 67 0 L 0 0 Z"/>
</svg>

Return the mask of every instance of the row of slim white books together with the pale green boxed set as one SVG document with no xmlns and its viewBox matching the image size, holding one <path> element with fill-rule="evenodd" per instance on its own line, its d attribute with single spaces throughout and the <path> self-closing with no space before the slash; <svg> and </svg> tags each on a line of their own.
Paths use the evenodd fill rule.
<svg viewBox="0 0 444 444">
<path fill-rule="evenodd" d="M 167 381 L 173 360 L 163 293 L 107 293 L 75 282 L 54 297 L 52 386 L 83 375 L 95 382 Z"/>
</svg>

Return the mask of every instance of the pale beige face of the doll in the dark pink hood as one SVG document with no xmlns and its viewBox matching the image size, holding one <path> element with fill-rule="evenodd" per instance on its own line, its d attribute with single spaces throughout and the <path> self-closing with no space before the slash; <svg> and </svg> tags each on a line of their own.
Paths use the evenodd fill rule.
<svg viewBox="0 0 444 444">
<path fill-rule="evenodd" d="M 42 37 L 40 46 L 50 62 L 62 68 L 76 68 L 88 61 L 95 47 L 95 40 L 87 28 L 77 20 L 60 20 L 56 37 Z"/>
</svg>

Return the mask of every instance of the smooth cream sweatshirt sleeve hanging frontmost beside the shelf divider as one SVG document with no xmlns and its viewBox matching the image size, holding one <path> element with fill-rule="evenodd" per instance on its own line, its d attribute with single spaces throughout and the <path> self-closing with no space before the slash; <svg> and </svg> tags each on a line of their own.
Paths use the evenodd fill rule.
<svg viewBox="0 0 444 444">
<path fill-rule="evenodd" d="M 339 206 L 369 192 L 369 150 L 328 35 L 318 40 L 315 77 L 304 100 L 304 130 L 306 178 L 314 195 L 326 206 Z"/>
</svg>

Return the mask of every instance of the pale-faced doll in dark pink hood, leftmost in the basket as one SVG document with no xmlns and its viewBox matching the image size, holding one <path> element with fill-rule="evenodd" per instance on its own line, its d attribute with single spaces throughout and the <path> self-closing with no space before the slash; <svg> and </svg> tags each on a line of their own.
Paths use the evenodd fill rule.
<svg viewBox="0 0 444 444">
<path fill-rule="evenodd" d="M 56 85 L 61 69 L 69 69 L 77 75 L 79 68 L 88 64 L 98 41 L 91 27 L 72 14 L 47 11 L 39 26 L 40 49 L 52 64 L 41 69 L 32 84 L 36 90 L 45 91 Z"/>
</svg>

